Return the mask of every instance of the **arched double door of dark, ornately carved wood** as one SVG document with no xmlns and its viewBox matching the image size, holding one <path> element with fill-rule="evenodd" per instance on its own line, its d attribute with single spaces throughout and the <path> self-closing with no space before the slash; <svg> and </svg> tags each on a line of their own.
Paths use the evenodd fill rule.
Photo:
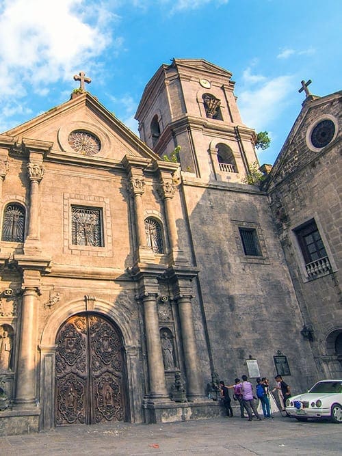
<svg viewBox="0 0 342 456">
<path fill-rule="evenodd" d="M 56 338 L 55 424 L 123 420 L 118 332 L 97 314 L 77 314 Z"/>
</svg>

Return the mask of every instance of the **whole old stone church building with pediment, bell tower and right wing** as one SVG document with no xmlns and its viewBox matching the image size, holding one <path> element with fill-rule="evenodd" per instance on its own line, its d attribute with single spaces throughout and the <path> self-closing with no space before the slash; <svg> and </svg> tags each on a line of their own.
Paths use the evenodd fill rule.
<svg viewBox="0 0 342 456">
<path fill-rule="evenodd" d="M 80 73 L 0 135 L 0 433 L 209 418 L 244 373 L 341 378 L 341 93 L 306 94 L 260 187 L 231 76 L 162 65 L 139 139 Z"/>
</svg>

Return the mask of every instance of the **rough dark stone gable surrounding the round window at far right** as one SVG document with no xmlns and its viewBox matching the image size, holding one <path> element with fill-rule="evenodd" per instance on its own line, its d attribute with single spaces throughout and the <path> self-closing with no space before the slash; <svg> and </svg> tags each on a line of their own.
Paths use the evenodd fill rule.
<svg viewBox="0 0 342 456">
<path fill-rule="evenodd" d="M 302 110 L 295 120 L 293 127 L 280 150 L 272 171 L 269 173 L 264 189 L 272 189 L 275 185 L 298 172 L 302 167 L 321 157 L 341 141 L 339 131 L 339 111 L 341 111 L 342 92 L 336 92 L 324 97 L 315 97 L 303 103 Z M 335 124 L 332 140 L 322 148 L 311 144 L 311 132 L 321 120 L 330 120 Z"/>
</svg>

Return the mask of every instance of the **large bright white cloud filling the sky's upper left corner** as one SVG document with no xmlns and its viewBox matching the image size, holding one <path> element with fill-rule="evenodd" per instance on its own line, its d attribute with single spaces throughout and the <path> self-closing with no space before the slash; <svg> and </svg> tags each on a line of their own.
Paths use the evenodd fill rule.
<svg viewBox="0 0 342 456">
<path fill-rule="evenodd" d="M 26 83 L 49 85 L 99 55 L 111 42 L 116 16 L 86 0 L 0 1 L 0 95 Z"/>
</svg>

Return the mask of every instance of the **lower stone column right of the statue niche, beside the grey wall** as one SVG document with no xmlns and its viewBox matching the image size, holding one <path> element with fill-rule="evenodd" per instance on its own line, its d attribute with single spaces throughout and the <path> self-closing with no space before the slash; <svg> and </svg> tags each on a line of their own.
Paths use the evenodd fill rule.
<svg viewBox="0 0 342 456">
<path fill-rule="evenodd" d="M 176 297 L 179 308 L 179 320 L 183 340 L 183 353 L 187 375 L 187 398 L 191 401 L 203 396 L 198 373 L 198 353 L 196 347 L 194 323 L 192 316 L 192 296 Z"/>
</svg>

